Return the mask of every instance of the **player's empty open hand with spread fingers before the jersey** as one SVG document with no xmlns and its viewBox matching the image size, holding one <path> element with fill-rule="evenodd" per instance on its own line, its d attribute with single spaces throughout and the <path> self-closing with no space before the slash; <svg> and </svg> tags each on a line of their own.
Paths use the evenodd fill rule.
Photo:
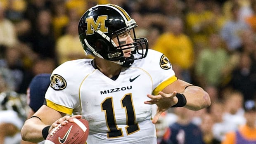
<svg viewBox="0 0 256 144">
<path fill-rule="evenodd" d="M 175 97 L 176 94 L 176 91 L 170 94 L 166 94 L 164 92 L 159 92 L 158 95 L 147 94 L 147 97 L 149 97 L 151 100 L 145 101 L 144 104 L 156 104 L 158 106 L 152 123 L 157 122 L 161 113 L 168 110 L 171 106 L 177 104 L 178 98 Z"/>
</svg>

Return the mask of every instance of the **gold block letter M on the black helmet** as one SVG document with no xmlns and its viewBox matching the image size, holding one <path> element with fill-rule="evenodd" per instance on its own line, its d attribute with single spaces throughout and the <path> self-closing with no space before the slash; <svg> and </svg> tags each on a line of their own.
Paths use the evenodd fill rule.
<svg viewBox="0 0 256 144">
<path fill-rule="evenodd" d="M 108 28 L 106 28 L 105 21 L 107 20 L 107 16 L 99 16 L 96 21 L 94 21 L 93 17 L 88 17 L 85 19 L 87 23 L 86 35 L 94 34 L 94 31 L 97 30 L 102 31 L 102 33 L 107 33 Z"/>
</svg>

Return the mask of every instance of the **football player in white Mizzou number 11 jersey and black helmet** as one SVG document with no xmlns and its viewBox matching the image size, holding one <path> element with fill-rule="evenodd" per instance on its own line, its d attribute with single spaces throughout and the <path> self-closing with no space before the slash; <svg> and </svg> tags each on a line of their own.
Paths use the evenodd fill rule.
<svg viewBox="0 0 256 144">
<path fill-rule="evenodd" d="M 78 33 L 94 59 L 67 61 L 52 72 L 45 103 L 24 123 L 22 138 L 40 142 L 64 120 L 84 118 L 87 144 L 156 144 L 154 123 L 162 112 L 209 106 L 209 94 L 179 80 L 164 54 L 148 49 L 147 38 L 136 38 L 136 27 L 117 5 L 88 9 Z M 153 119 L 152 104 L 158 106 Z"/>
</svg>

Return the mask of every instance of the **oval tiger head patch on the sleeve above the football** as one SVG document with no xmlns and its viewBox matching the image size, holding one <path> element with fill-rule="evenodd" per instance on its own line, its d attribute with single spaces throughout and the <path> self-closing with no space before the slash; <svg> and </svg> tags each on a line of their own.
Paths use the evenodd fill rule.
<svg viewBox="0 0 256 144">
<path fill-rule="evenodd" d="M 54 90 L 63 90 L 66 88 L 66 80 L 57 74 L 51 76 L 51 87 Z"/>
</svg>

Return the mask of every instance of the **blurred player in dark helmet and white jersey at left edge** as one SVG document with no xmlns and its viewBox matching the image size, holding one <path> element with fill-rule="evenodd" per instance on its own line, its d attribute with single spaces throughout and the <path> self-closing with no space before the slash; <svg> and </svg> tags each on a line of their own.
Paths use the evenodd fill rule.
<svg viewBox="0 0 256 144">
<path fill-rule="evenodd" d="M 0 93 L 0 144 L 20 144 L 26 113 L 26 96 L 14 91 Z"/>
</svg>

